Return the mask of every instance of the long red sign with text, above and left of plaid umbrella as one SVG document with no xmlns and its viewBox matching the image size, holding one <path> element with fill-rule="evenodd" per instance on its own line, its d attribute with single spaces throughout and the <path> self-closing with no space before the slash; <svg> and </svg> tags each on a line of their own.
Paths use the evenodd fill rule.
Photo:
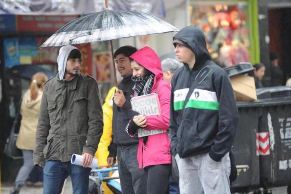
<svg viewBox="0 0 291 194">
<path fill-rule="evenodd" d="M 55 32 L 78 15 L 68 16 L 16 16 L 16 31 Z"/>
</svg>

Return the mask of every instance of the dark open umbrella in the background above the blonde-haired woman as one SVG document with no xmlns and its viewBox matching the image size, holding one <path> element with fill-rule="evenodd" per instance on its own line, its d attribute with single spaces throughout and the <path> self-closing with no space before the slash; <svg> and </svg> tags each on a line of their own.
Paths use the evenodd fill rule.
<svg viewBox="0 0 291 194">
<path fill-rule="evenodd" d="M 14 74 L 26 80 L 30 80 L 32 76 L 38 72 L 43 72 L 48 78 L 55 77 L 52 71 L 48 71 L 37 65 L 15 65 L 7 69 L 8 74 Z"/>
</svg>

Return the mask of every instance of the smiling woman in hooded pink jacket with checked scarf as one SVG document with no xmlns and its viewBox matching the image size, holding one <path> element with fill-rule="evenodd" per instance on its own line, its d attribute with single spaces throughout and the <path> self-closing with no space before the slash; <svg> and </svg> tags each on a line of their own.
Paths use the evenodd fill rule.
<svg viewBox="0 0 291 194">
<path fill-rule="evenodd" d="M 148 194 L 166 194 L 169 192 L 171 174 L 170 139 L 167 134 L 170 119 L 170 85 L 163 80 L 161 61 L 149 47 L 144 47 L 130 56 L 132 79 L 135 81 L 134 96 L 157 93 L 160 102 L 160 115 L 145 116 L 135 112 L 126 130 L 131 136 L 137 136 L 140 128 L 160 129 L 163 133 L 139 138 L 137 160 L 144 168 L 147 177 Z"/>
</svg>

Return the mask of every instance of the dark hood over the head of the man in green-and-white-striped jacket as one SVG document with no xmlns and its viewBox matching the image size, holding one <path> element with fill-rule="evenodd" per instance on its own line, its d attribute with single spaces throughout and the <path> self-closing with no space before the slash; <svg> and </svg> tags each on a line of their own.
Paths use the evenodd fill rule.
<svg viewBox="0 0 291 194">
<path fill-rule="evenodd" d="M 207 50 L 205 35 L 198 26 L 187 26 L 182 28 L 173 37 L 173 44 L 182 41 L 195 54 L 196 62 L 194 67 L 203 65 L 206 60 L 211 60 Z"/>
</svg>

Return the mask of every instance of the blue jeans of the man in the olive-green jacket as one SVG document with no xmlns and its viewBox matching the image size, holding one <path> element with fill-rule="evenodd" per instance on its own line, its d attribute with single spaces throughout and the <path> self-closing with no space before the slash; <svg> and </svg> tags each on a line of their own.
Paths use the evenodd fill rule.
<svg viewBox="0 0 291 194">
<path fill-rule="evenodd" d="M 64 180 L 69 175 L 74 194 L 88 193 L 90 171 L 91 168 L 84 168 L 70 162 L 46 161 L 44 166 L 44 194 L 61 193 Z"/>
</svg>

